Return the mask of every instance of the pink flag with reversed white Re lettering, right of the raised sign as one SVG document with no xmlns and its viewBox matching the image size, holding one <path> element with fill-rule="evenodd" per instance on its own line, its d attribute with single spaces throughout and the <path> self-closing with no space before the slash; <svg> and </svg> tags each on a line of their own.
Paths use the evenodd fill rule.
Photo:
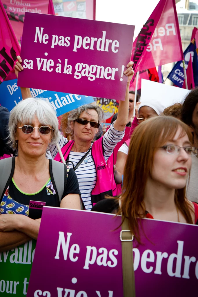
<svg viewBox="0 0 198 297">
<path fill-rule="evenodd" d="M 183 50 L 175 0 L 160 0 L 133 43 L 134 69 L 141 71 L 180 60 Z"/>
</svg>

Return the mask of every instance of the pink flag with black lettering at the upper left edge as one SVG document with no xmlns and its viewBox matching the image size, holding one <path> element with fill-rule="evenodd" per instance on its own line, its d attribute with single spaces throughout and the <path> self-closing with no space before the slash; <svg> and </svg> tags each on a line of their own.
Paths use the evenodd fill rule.
<svg viewBox="0 0 198 297">
<path fill-rule="evenodd" d="M 14 67 L 20 54 L 20 45 L 0 0 L 0 84 Z"/>
</svg>

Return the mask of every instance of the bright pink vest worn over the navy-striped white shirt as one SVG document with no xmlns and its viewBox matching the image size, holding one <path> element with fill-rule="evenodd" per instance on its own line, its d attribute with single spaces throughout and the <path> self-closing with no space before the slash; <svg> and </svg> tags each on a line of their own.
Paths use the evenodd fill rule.
<svg viewBox="0 0 198 297">
<path fill-rule="evenodd" d="M 103 136 L 96 140 L 91 148 L 91 156 L 94 160 L 97 174 L 95 187 L 91 191 L 91 202 L 93 205 L 96 204 L 98 201 L 103 200 L 106 195 L 116 195 L 117 185 L 114 178 L 113 154 L 109 157 L 106 163 L 103 155 L 102 138 Z M 61 149 L 65 160 L 69 156 L 73 144 L 74 140 L 70 140 Z M 54 160 L 62 162 L 59 153 L 56 155 Z"/>
</svg>

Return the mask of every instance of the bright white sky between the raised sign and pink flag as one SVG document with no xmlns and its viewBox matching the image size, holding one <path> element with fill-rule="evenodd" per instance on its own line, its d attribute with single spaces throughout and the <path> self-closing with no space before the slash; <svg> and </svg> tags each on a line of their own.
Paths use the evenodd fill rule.
<svg viewBox="0 0 198 297">
<path fill-rule="evenodd" d="M 96 20 L 134 25 L 135 39 L 158 2 L 159 0 L 96 0 Z"/>
</svg>

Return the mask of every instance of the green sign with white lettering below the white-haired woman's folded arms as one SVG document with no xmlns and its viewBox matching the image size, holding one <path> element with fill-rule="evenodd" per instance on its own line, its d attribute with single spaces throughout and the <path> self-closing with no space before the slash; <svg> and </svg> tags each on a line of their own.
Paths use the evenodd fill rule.
<svg viewBox="0 0 198 297">
<path fill-rule="evenodd" d="M 7 252 L 0 252 L 0 296 L 22 297 L 27 294 L 36 240 Z"/>
</svg>

